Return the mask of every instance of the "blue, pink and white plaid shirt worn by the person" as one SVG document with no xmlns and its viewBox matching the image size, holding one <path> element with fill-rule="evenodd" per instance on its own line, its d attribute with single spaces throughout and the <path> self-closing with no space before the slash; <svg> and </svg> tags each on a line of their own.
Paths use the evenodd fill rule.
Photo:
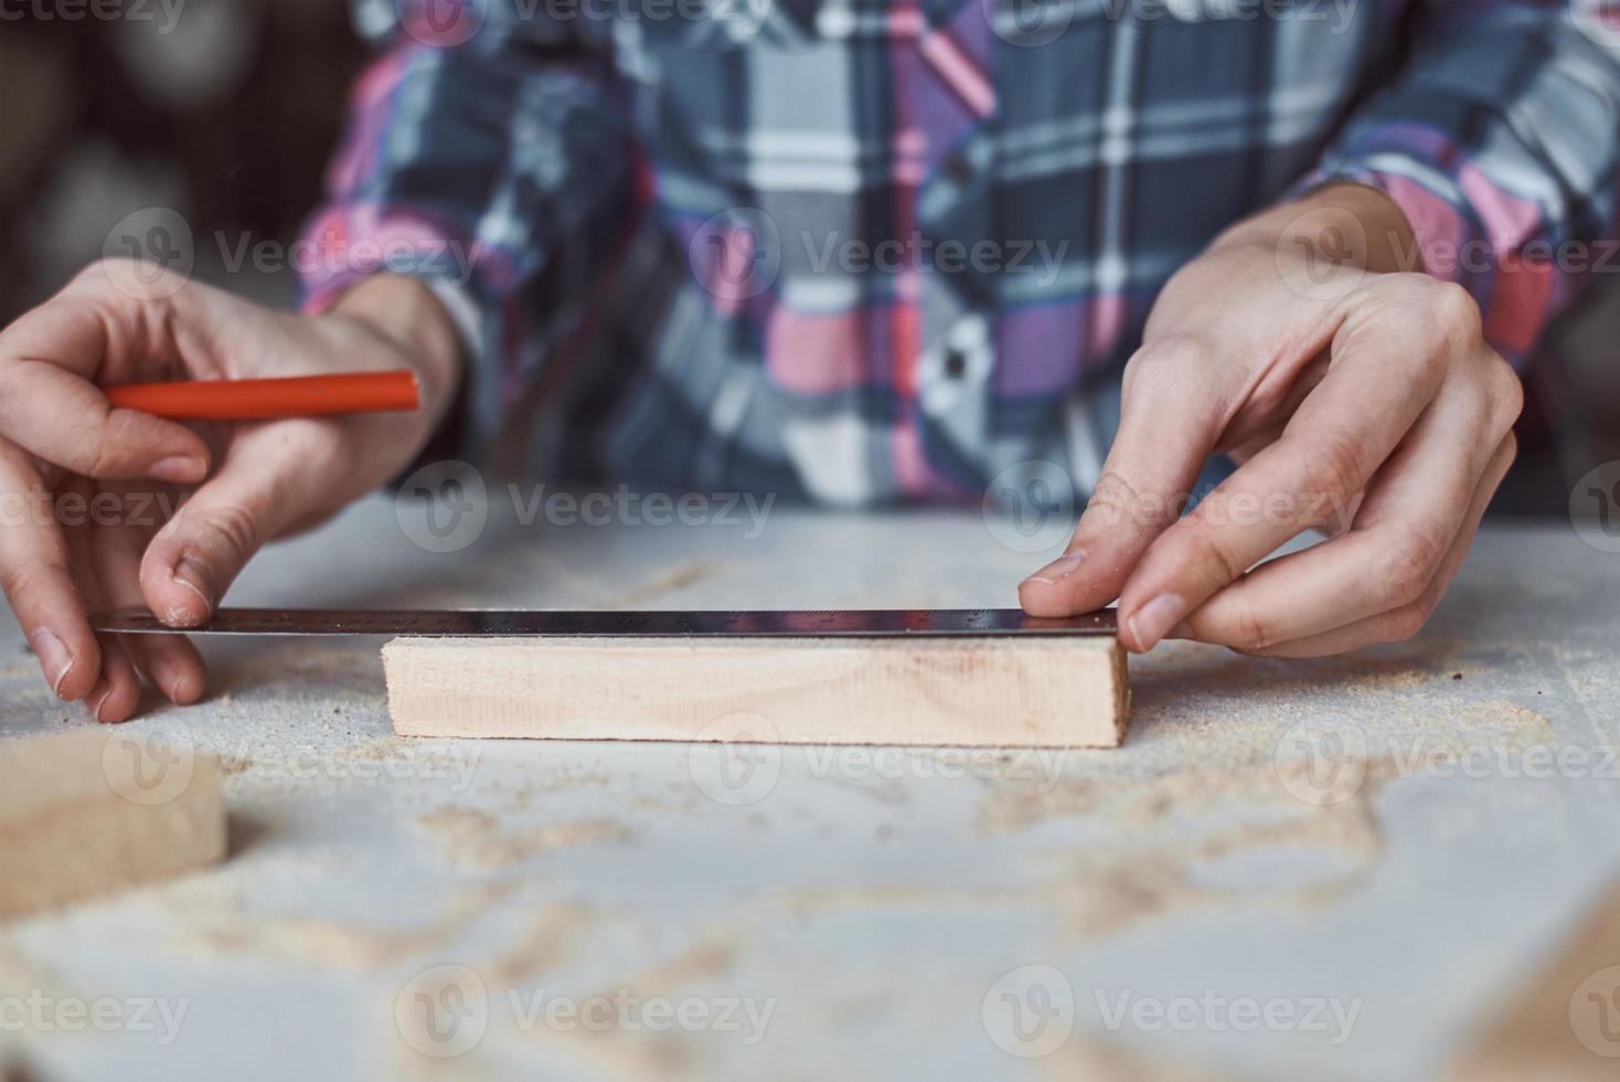
<svg viewBox="0 0 1620 1082">
<path fill-rule="evenodd" d="M 1610 13 L 1612 15 L 1612 13 Z M 1375 185 L 1492 342 L 1610 233 L 1620 21 L 1435 0 L 361 0 L 321 309 L 426 279 L 463 457 L 839 504 L 1085 489 L 1166 277 Z M 1377 91 L 1374 94 L 1374 91 Z M 360 253 L 368 253 L 361 256 Z"/>
</svg>

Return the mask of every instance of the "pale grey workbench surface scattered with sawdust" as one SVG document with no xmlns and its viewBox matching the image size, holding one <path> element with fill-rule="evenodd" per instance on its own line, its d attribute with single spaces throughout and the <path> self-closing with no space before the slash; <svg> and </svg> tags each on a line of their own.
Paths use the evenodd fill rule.
<svg viewBox="0 0 1620 1082">
<path fill-rule="evenodd" d="M 371 499 L 230 601 L 1003 607 L 1048 556 L 977 509 L 557 528 L 491 504 L 434 552 Z M 222 755 L 230 857 L 0 923 L 0 1064 L 1434 1077 L 1620 876 L 1617 572 L 1568 525 L 1487 528 L 1413 643 L 1132 658 L 1108 752 L 416 742 L 376 640 L 211 640 L 211 698 L 130 727 Z M 3 619 L 0 737 L 87 724 Z"/>
</svg>

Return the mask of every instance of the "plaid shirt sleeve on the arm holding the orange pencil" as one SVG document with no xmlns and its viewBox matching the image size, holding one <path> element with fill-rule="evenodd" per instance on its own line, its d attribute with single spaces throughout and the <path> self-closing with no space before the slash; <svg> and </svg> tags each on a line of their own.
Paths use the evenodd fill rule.
<svg viewBox="0 0 1620 1082">
<path fill-rule="evenodd" d="M 630 183 L 606 50 L 517 0 L 360 0 L 361 75 L 305 227 L 303 308 L 369 274 L 423 280 L 467 356 L 434 454 L 480 462 L 588 296 L 580 251 Z M 536 298 L 554 298 L 539 305 Z"/>
</svg>

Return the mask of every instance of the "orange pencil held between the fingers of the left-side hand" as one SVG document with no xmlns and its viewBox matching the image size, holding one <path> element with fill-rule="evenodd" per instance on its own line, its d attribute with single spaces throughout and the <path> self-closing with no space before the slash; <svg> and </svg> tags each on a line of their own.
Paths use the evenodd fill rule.
<svg viewBox="0 0 1620 1082">
<path fill-rule="evenodd" d="M 172 421 L 262 421 L 330 413 L 416 410 L 416 373 L 342 373 L 282 379 L 198 379 L 104 387 L 107 400 Z"/>
</svg>

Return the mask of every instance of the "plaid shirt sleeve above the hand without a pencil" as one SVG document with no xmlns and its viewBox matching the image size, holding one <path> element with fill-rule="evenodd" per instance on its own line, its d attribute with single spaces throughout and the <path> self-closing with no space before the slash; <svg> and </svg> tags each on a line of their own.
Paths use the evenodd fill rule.
<svg viewBox="0 0 1620 1082">
<path fill-rule="evenodd" d="M 1620 269 L 1620 5 L 1427 0 L 1400 78 L 1294 194 L 1382 190 L 1424 270 L 1468 288 L 1486 339 L 1521 363 L 1588 274 Z"/>
</svg>

